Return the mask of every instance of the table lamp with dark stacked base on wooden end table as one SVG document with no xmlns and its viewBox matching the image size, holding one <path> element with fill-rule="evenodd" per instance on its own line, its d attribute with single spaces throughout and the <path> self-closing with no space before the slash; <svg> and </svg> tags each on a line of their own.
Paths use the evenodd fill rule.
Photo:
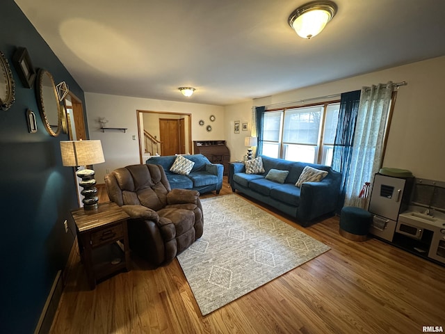
<svg viewBox="0 0 445 334">
<path fill-rule="evenodd" d="M 60 141 L 60 152 L 62 153 L 63 166 L 88 166 L 105 162 L 102 143 L 100 141 Z M 99 206 L 97 197 L 95 171 L 92 169 L 81 169 L 76 175 L 82 180 L 79 182 L 83 190 L 83 209 L 95 210 Z"/>
</svg>

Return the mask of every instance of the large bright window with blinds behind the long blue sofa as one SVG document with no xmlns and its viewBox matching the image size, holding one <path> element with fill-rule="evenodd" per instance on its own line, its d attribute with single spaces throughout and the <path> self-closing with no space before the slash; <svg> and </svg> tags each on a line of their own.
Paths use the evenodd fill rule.
<svg viewBox="0 0 445 334">
<path fill-rule="evenodd" d="M 263 154 L 330 166 L 339 106 L 335 102 L 266 111 Z"/>
</svg>

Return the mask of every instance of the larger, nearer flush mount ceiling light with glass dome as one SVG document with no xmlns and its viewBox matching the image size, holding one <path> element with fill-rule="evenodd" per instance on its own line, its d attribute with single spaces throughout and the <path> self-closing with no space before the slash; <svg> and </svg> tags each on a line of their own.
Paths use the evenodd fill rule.
<svg viewBox="0 0 445 334">
<path fill-rule="evenodd" d="M 294 10 L 288 22 L 300 37 L 309 40 L 321 33 L 335 13 L 337 5 L 334 2 L 311 1 Z"/>
</svg>

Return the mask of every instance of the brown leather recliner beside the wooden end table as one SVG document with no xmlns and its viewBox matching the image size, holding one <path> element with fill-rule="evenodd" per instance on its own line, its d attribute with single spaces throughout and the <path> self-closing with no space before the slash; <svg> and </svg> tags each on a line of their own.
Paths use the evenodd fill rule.
<svg viewBox="0 0 445 334">
<path fill-rule="evenodd" d="M 159 165 L 118 168 L 105 176 L 110 200 L 124 209 L 130 249 L 158 266 L 202 236 L 200 193 L 171 189 Z"/>
</svg>

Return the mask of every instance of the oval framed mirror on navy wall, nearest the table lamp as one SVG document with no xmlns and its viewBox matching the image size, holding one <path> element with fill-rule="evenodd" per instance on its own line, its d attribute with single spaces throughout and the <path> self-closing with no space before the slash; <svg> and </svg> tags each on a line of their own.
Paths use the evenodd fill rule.
<svg viewBox="0 0 445 334">
<path fill-rule="evenodd" d="M 39 70 L 37 74 L 37 102 L 43 125 L 51 136 L 58 136 L 61 128 L 61 111 L 56 84 L 51 73 Z"/>
</svg>

